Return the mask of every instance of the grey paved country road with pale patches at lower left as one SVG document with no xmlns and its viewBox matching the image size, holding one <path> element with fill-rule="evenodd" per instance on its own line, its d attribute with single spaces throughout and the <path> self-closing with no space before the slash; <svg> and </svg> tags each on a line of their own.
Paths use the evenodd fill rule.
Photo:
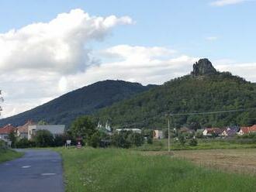
<svg viewBox="0 0 256 192">
<path fill-rule="evenodd" d="M 45 149 L 19 149 L 22 158 L 0 163 L 1 192 L 63 192 L 61 156 Z"/>
</svg>

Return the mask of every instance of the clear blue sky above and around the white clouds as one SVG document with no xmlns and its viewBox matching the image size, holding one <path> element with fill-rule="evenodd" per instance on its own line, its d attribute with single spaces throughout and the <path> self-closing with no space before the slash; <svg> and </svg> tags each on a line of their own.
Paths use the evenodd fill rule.
<svg viewBox="0 0 256 192">
<path fill-rule="evenodd" d="M 211 0 L 2 1 L 0 33 L 58 13 L 83 9 L 90 15 L 129 15 L 136 25 L 118 27 L 98 46 L 116 44 L 167 46 L 196 57 L 254 62 L 256 3 L 212 6 Z M 207 40 L 207 37 L 216 39 Z M 96 46 L 96 45 L 95 45 Z"/>
</svg>

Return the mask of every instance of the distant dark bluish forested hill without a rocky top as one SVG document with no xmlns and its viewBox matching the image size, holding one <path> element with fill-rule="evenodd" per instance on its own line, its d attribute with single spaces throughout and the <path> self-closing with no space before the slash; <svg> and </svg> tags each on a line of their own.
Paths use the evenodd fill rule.
<svg viewBox="0 0 256 192">
<path fill-rule="evenodd" d="M 28 119 L 34 122 L 44 120 L 49 123 L 70 124 L 79 115 L 92 114 L 99 108 L 112 105 L 116 101 L 130 98 L 134 94 L 147 91 L 155 85 L 143 86 L 126 81 L 99 81 L 62 95 L 44 105 L 0 120 L 0 126 L 11 123 L 22 125 Z"/>
</svg>

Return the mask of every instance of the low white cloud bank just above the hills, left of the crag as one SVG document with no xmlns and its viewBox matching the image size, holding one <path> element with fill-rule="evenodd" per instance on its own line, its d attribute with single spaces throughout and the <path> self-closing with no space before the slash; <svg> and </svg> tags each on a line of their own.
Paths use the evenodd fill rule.
<svg viewBox="0 0 256 192">
<path fill-rule="evenodd" d="M 70 88 L 106 79 L 162 84 L 171 78 L 189 74 L 192 63 L 197 60 L 159 46 L 119 45 L 95 54 L 108 62 L 88 67 L 85 73 L 68 76 Z"/>
</svg>

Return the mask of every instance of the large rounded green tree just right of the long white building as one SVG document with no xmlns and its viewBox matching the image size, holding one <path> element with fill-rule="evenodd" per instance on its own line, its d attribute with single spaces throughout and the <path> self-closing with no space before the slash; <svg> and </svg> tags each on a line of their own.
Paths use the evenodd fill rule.
<svg viewBox="0 0 256 192">
<path fill-rule="evenodd" d="M 74 120 L 71 124 L 71 133 L 74 138 L 81 137 L 88 142 L 91 136 L 96 132 L 92 119 L 88 116 L 81 116 Z"/>
</svg>

